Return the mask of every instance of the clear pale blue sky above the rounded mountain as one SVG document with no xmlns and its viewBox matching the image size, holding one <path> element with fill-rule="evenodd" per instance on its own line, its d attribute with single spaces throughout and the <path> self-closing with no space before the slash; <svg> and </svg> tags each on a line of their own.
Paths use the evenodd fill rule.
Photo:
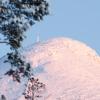
<svg viewBox="0 0 100 100">
<path fill-rule="evenodd" d="M 27 32 L 23 47 L 56 37 L 79 40 L 100 55 L 100 0 L 48 0 L 50 14 Z M 0 57 L 9 51 L 0 44 Z"/>
</svg>

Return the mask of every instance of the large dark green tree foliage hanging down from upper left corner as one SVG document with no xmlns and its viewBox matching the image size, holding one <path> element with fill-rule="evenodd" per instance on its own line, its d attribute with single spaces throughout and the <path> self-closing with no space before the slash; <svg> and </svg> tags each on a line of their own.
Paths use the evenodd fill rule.
<svg viewBox="0 0 100 100">
<path fill-rule="evenodd" d="M 30 71 L 27 68 L 30 65 L 22 59 L 19 52 L 25 32 L 49 14 L 48 6 L 45 0 L 0 0 L 0 34 L 4 36 L 0 43 L 9 45 L 11 49 L 5 61 L 11 64 L 11 69 L 6 74 L 18 82 L 20 74 L 28 76 Z"/>
</svg>

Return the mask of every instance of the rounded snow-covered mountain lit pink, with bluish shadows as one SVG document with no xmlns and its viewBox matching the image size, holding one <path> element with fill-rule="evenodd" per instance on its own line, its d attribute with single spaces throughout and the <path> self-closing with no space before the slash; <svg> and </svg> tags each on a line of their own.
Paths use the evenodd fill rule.
<svg viewBox="0 0 100 100">
<path fill-rule="evenodd" d="M 38 100 L 100 100 L 100 57 L 83 43 L 67 38 L 51 39 L 25 49 L 35 77 L 46 85 Z M 0 59 L 0 95 L 7 100 L 25 100 L 21 83 L 3 74 L 10 68 Z M 36 99 L 37 100 L 37 99 Z"/>
</svg>

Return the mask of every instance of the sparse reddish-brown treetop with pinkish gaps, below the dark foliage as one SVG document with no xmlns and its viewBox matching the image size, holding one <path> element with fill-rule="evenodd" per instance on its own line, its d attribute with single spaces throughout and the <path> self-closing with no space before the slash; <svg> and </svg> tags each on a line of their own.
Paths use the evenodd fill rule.
<svg viewBox="0 0 100 100">
<path fill-rule="evenodd" d="M 28 84 L 24 93 L 26 100 L 38 100 L 42 98 L 42 94 L 45 92 L 45 84 L 39 82 L 38 79 L 31 77 L 28 80 Z"/>
</svg>

